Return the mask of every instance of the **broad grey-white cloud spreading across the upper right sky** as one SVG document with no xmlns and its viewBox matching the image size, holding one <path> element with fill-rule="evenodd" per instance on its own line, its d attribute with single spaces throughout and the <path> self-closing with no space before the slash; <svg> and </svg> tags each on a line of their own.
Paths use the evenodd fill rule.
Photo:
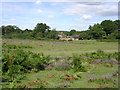
<svg viewBox="0 0 120 90">
<path fill-rule="evenodd" d="M 118 16 L 118 6 L 111 4 L 81 4 L 77 3 L 67 7 L 64 10 L 67 15 L 84 15 L 84 14 L 95 14 L 99 16 Z"/>
</svg>

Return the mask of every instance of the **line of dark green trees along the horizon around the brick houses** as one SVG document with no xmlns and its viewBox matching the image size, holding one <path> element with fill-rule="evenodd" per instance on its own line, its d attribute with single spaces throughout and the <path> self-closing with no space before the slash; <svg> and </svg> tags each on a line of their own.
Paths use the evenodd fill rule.
<svg viewBox="0 0 120 90">
<path fill-rule="evenodd" d="M 90 25 L 88 30 L 85 31 L 76 31 L 75 29 L 72 29 L 70 31 L 56 31 L 56 29 L 51 29 L 51 27 L 45 23 L 38 23 L 33 30 L 22 30 L 14 25 L 3 25 L 0 28 L 0 30 L 2 30 L 3 38 L 58 40 L 58 34 L 60 32 L 63 32 L 67 36 L 79 35 L 80 40 L 120 39 L 120 20 L 104 20 L 101 23 L 94 24 L 93 26 Z"/>
</svg>

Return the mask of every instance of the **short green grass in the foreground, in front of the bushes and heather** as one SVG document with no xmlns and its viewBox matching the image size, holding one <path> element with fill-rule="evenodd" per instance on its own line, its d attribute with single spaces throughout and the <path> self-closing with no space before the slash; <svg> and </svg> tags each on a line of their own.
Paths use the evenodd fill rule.
<svg viewBox="0 0 120 90">
<path fill-rule="evenodd" d="M 95 82 L 88 82 L 88 78 L 90 76 L 95 76 L 95 77 L 99 77 L 99 76 L 103 76 L 103 75 L 107 75 L 108 73 L 111 74 L 113 71 L 117 70 L 117 66 L 114 67 L 105 67 L 103 65 L 90 65 L 91 69 L 88 72 L 84 72 L 81 73 L 82 78 L 79 80 L 74 80 L 73 83 L 71 83 L 72 85 L 69 88 L 96 88 L 96 87 L 100 87 L 99 83 L 95 83 Z M 94 72 L 94 74 L 92 74 L 92 72 Z M 61 76 L 65 76 L 66 74 L 72 75 L 75 73 L 69 72 L 69 71 L 56 71 L 56 70 L 45 70 L 45 71 L 40 71 L 38 73 L 29 73 L 26 74 L 26 78 L 24 80 L 22 80 L 22 83 L 27 85 L 28 87 L 31 88 L 36 88 L 34 85 L 29 85 L 29 82 L 33 82 L 36 81 L 37 78 L 39 78 L 41 81 L 44 81 L 46 84 L 46 88 L 55 88 L 56 85 L 59 85 L 60 83 L 62 83 L 63 79 L 60 79 Z M 47 75 L 54 75 L 55 77 L 47 77 Z M 70 81 L 66 81 L 69 82 Z M 101 84 L 101 86 L 110 86 L 113 85 L 112 83 L 109 84 Z M 112 86 L 110 86 L 112 87 Z"/>
</svg>

